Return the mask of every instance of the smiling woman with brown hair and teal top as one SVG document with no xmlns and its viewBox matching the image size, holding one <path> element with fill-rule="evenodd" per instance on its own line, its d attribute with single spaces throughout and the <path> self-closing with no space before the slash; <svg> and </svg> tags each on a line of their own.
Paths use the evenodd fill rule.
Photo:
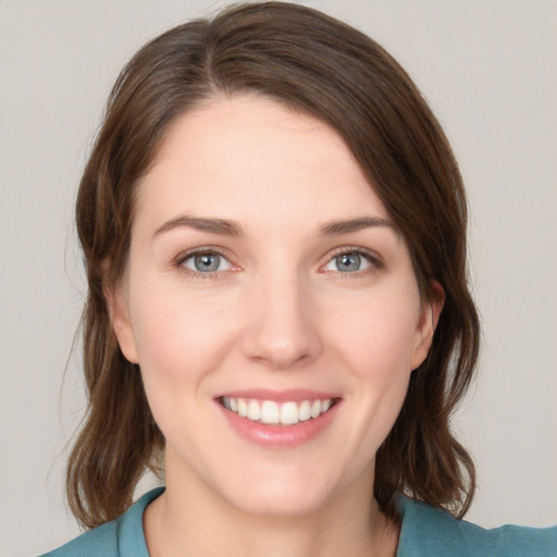
<svg viewBox="0 0 557 557">
<path fill-rule="evenodd" d="M 466 198 L 375 42 L 286 3 L 171 29 L 116 82 L 76 215 L 67 495 L 92 530 L 51 555 L 555 554 L 556 529 L 450 517 L 474 490 L 448 426 L 479 346 Z M 165 490 L 132 506 L 147 468 Z"/>
</svg>

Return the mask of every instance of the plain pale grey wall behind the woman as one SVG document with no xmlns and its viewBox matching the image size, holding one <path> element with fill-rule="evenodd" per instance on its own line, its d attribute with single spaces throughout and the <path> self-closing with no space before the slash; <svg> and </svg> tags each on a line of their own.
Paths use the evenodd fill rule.
<svg viewBox="0 0 557 557">
<path fill-rule="evenodd" d="M 461 164 L 484 325 L 479 379 L 454 421 L 478 465 L 468 518 L 555 523 L 557 2 L 301 3 L 399 60 Z M 145 41 L 223 4 L 0 0 L 0 556 L 78 533 L 62 483 L 84 408 L 70 358 L 84 296 L 72 211 L 104 100 Z"/>
</svg>

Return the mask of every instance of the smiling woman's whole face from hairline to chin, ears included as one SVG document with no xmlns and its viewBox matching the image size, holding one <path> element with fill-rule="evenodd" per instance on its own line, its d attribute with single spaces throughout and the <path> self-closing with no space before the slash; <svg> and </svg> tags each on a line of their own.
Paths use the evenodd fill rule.
<svg viewBox="0 0 557 557">
<path fill-rule="evenodd" d="M 437 309 L 347 146 L 272 100 L 214 99 L 138 188 L 112 317 L 168 485 L 256 513 L 368 504 Z"/>
</svg>

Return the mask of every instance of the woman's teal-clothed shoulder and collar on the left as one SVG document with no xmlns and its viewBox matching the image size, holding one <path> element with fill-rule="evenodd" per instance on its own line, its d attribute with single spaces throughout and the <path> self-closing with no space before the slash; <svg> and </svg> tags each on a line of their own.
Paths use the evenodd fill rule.
<svg viewBox="0 0 557 557">
<path fill-rule="evenodd" d="M 94 528 L 41 557 L 149 557 L 143 529 L 145 508 L 163 488 L 145 494 L 116 520 Z"/>
</svg>

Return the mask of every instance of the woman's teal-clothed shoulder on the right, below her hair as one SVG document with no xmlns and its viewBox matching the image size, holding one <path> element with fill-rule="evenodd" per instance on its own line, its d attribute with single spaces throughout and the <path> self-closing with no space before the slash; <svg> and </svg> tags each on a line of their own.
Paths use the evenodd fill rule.
<svg viewBox="0 0 557 557">
<path fill-rule="evenodd" d="M 524 528 L 504 525 L 485 530 L 400 496 L 403 530 L 397 557 L 556 557 L 557 525 Z"/>
</svg>

